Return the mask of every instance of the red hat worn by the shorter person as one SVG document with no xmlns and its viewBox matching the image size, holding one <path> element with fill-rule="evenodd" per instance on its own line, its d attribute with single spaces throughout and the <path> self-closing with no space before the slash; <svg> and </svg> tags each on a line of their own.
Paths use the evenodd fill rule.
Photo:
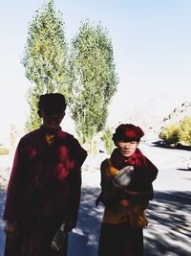
<svg viewBox="0 0 191 256">
<path fill-rule="evenodd" d="M 144 135 L 141 128 L 132 124 L 122 124 L 116 128 L 116 133 L 113 134 L 115 144 L 117 141 L 139 141 Z"/>
</svg>

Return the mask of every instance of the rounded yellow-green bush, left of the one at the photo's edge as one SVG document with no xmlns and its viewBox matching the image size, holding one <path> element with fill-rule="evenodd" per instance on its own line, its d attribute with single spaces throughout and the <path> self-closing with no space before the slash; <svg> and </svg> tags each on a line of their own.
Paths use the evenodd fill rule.
<svg viewBox="0 0 191 256">
<path fill-rule="evenodd" d="M 179 141 L 179 124 L 172 124 L 166 128 L 163 128 L 159 133 L 159 138 L 164 140 L 167 144 L 177 144 Z"/>
</svg>

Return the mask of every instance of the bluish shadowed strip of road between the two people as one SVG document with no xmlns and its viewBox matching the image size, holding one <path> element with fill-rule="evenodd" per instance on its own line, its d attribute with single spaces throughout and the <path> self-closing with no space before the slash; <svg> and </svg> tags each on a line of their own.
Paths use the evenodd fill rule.
<svg viewBox="0 0 191 256">
<path fill-rule="evenodd" d="M 96 256 L 103 207 L 95 205 L 99 188 L 82 188 L 77 227 L 70 234 L 69 256 Z"/>
</svg>

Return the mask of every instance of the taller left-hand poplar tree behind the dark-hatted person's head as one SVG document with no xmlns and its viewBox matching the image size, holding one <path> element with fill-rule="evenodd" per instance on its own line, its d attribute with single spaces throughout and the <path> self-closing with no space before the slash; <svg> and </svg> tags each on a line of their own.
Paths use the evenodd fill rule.
<svg viewBox="0 0 191 256">
<path fill-rule="evenodd" d="M 31 115 L 26 124 L 32 130 L 40 124 L 36 113 L 40 94 L 64 92 L 68 96 L 68 45 L 62 14 L 55 11 L 53 0 L 37 10 L 30 22 L 22 63 L 32 82 L 27 94 Z"/>
</svg>

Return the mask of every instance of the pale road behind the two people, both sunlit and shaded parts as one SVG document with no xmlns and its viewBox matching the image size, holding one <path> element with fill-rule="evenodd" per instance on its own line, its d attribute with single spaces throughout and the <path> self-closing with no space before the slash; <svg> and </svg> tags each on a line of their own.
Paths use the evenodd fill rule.
<svg viewBox="0 0 191 256">
<path fill-rule="evenodd" d="M 159 167 L 154 182 L 155 198 L 144 229 L 145 256 L 190 256 L 191 248 L 191 172 L 186 169 L 189 151 L 169 151 L 144 146 L 142 151 Z M 97 162 L 100 159 L 97 159 Z M 99 193 L 99 170 L 83 171 L 79 221 L 70 234 L 69 256 L 96 256 L 103 207 L 95 206 Z M 5 190 L 0 190 L 0 214 Z M 0 256 L 3 256 L 3 224 L 0 222 Z"/>
</svg>

